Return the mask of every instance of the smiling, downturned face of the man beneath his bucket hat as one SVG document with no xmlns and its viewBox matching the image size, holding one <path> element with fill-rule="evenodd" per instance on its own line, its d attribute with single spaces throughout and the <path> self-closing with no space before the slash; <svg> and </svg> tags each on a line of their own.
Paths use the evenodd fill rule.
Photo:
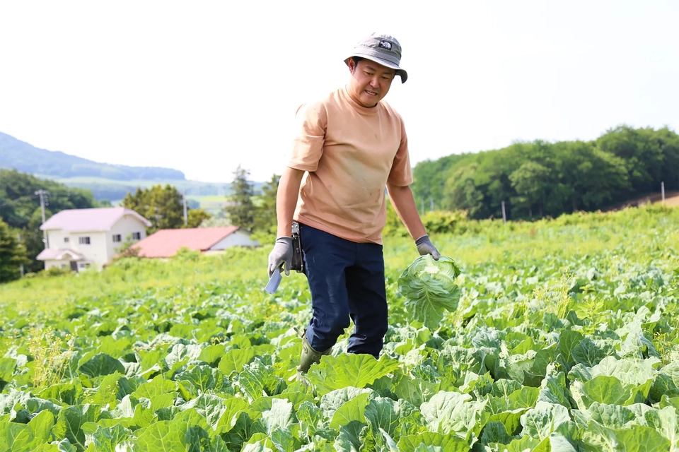
<svg viewBox="0 0 679 452">
<path fill-rule="evenodd" d="M 349 94 L 363 107 L 375 107 L 389 92 L 396 71 L 374 61 L 362 59 L 358 64 L 349 60 Z"/>
</svg>

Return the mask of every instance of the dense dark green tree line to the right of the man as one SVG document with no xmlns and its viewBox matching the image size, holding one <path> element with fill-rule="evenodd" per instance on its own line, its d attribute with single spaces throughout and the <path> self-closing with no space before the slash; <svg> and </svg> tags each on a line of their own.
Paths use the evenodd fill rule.
<svg viewBox="0 0 679 452">
<path fill-rule="evenodd" d="M 499 150 L 418 163 L 412 186 L 424 206 L 470 218 L 556 217 L 636 196 L 679 190 L 679 135 L 619 126 L 593 141 L 518 142 Z"/>
</svg>

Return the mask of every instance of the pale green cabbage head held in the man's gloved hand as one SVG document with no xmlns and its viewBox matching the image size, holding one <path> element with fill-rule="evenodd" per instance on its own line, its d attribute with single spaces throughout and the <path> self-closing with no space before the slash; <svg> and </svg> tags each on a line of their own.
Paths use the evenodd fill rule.
<svg viewBox="0 0 679 452">
<path fill-rule="evenodd" d="M 439 328 L 445 311 L 458 309 L 462 291 L 455 278 L 459 274 L 460 268 L 448 256 L 438 261 L 431 254 L 419 256 L 398 278 L 405 309 L 426 328 Z"/>
</svg>

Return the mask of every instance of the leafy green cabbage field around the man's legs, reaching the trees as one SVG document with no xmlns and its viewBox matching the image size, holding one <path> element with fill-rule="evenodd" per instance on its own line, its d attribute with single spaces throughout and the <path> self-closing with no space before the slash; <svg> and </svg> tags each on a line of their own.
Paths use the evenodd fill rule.
<svg viewBox="0 0 679 452">
<path fill-rule="evenodd" d="M 386 237 L 380 359 L 347 330 L 308 386 L 306 280 L 267 294 L 267 246 L 0 286 L 0 451 L 679 451 L 679 209 L 432 241 L 450 297 Z"/>
</svg>

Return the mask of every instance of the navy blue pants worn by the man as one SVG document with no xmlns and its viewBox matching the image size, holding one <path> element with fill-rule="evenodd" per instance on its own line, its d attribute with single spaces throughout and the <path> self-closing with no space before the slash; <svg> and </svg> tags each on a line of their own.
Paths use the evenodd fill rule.
<svg viewBox="0 0 679 452">
<path fill-rule="evenodd" d="M 352 319 L 348 352 L 377 358 L 388 327 L 382 245 L 299 226 L 313 308 L 306 330 L 311 347 L 325 352 Z"/>
</svg>

